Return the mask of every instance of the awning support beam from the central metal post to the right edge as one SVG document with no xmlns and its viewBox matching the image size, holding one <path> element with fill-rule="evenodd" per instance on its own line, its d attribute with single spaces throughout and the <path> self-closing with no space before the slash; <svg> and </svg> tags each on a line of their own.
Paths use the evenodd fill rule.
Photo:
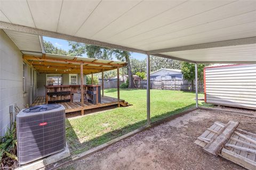
<svg viewBox="0 0 256 170">
<path fill-rule="evenodd" d="M 191 49 L 204 49 L 204 48 L 237 46 L 237 45 L 246 45 L 246 44 L 256 44 L 256 37 L 233 39 L 233 40 L 226 40 L 226 41 L 217 41 L 217 42 L 213 42 L 213 43 L 204 43 L 204 44 L 196 44 L 196 45 L 189 45 L 189 46 L 157 49 L 157 50 L 150 50 L 148 52 L 148 54 L 154 55 L 154 54 L 158 54 L 158 53 L 178 52 L 178 51 L 191 50 Z"/>
</svg>

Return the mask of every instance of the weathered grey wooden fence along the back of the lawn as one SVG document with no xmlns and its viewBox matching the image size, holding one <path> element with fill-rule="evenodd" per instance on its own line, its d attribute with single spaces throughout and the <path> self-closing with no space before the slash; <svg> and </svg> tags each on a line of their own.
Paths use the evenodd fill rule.
<svg viewBox="0 0 256 170">
<path fill-rule="evenodd" d="M 134 83 L 136 88 L 147 88 L 147 80 L 134 81 Z M 195 83 L 192 86 L 188 80 L 150 80 L 150 89 L 195 91 Z M 204 91 L 204 84 L 201 82 L 198 83 L 198 91 Z"/>
</svg>

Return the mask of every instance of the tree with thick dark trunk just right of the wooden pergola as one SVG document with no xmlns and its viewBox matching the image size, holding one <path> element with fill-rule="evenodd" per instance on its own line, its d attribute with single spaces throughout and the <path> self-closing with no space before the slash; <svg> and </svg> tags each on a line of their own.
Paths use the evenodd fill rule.
<svg viewBox="0 0 256 170">
<path fill-rule="evenodd" d="M 132 76 L 132 68 L 130 62 L 131 52 L 127 52 L 125 50 L 113 49 L 111 50 L 111 54 L 115 55 L 118 60 L 126 61 L 127 63 L 127 72 L 128 72 L 128 81 L 129 81 L 129 89 L 135 88 Z"/>
</svg>

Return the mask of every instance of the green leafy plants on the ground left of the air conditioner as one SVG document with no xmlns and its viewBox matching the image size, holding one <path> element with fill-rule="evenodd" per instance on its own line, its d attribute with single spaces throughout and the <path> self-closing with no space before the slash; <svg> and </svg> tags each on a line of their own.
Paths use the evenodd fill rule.
<svg viewBox="0 0 256 170">
<path fill-rule="evenodd" d="M 13 123 L 10 129 L 7 129 L 3 137 L 0 137 L 0 160 L 0 169 L 14 169 L 15 167 L 18 167 L 15 123 Z"/>
</svg>

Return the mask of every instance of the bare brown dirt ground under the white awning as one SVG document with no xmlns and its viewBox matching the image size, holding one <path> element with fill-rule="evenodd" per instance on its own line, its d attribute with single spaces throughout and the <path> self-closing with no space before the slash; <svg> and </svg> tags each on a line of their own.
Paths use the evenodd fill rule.
<svg viewBox="0 0 256 170">
<path fill-rule="evenodd" d="M 238 121 L 256 133 L 256 118 L 197 109 L 115 143 L 61 169 L 244 169 L 206 154 L 194 141 L 215 121 Z"/>
</svg>

